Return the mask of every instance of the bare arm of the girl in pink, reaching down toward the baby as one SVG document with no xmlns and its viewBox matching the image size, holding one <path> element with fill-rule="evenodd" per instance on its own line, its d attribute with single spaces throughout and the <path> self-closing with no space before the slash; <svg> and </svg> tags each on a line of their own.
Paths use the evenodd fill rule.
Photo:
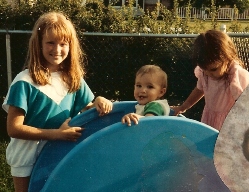
<svg viewBox="0 0 249 192">
<path fill-rule="evenodd" d="M 203 91 L 195 87 L 195 89 L 190 93 L 186 101 L 180 106 L 172 106 L 171 108 L 175 111 L 175 115 L 184 113 L 186 110 L 190 109 L 204 96 Z"/>
</svg>

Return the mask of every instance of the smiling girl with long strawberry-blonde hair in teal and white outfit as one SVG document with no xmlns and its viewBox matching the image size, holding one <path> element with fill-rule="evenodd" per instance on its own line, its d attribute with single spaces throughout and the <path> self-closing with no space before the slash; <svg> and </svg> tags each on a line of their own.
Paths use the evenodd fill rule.
<svg viewBox="0 0 249 192">
<path fill-rule="evenodd" d="M 100 115 L 112 103 L 94 95 L 84 81 L 83 53 L 72 22 L 62 13 L 42 15 L 29 40 L 26 68 L 13 80 L 3 108 L 11 141 L 6 158 L 15 191 L 28 191 L 29 177 L 46 140 L 76 141 L 80 127 L 71 117 L 96 107 Z"/>
</svg>

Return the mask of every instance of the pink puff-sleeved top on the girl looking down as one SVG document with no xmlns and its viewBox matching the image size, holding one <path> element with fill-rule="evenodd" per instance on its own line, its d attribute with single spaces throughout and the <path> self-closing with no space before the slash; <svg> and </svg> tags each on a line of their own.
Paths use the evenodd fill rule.
<svg viewBox="0 0 249 192">
<path fill-rule="evenodd" d="M 249 84 L 249 72 L 235 61 L 230 66 L 227 80 L 212 79 L 198 66 L 194 72 L 198 78 L 197 88 L 204 92 L 205 98 L 201 122 L 220 130 L 233 104 Z"/>
</svg>

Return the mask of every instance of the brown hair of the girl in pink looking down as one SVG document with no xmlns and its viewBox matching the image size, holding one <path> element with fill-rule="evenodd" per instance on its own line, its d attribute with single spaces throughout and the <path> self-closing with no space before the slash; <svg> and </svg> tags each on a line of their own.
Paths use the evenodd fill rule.
<svg viewBox="0 0 249 192">
<path fill-rule="evenodd" d="M 208 30 L 201 33 L 194 41 L 193 62 L 202 69 L 216 63 L 230 65 L 236 60 L 244 67 L 232 39 L 224 32 Z M 229 68 L 229 66 L 227 67 Z"/>
</svg>

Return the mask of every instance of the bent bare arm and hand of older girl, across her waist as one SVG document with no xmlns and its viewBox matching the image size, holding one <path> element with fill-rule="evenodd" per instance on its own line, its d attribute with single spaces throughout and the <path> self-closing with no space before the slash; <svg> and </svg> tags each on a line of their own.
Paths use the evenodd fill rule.
<svg viewBox="0 0 249 192">
<path fill-rule="evenodd" d="M 10 137 L 25 140 L 68 140 L 76 141 L 81 136 L 81 127 L 69 127 L 67 119 L 59 129 L 39 129 L 24 125 L 24 111 L 9 106 L 7 131 Z"/>
</svg>

